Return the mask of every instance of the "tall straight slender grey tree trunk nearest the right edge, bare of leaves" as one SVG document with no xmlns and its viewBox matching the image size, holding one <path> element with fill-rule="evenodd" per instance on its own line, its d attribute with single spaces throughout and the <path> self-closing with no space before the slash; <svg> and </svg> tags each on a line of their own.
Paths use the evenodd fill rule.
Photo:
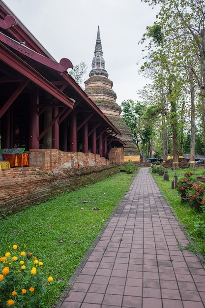
<svg viewBox="0 0 205 308">
<path fill-rule="evenodd" d="M 195 168 L 195 92 L 193 76 L 190 72 L 190 92 L 191 92 L 191 140 L 190 140 L 190 168 Z"/>
</svg>

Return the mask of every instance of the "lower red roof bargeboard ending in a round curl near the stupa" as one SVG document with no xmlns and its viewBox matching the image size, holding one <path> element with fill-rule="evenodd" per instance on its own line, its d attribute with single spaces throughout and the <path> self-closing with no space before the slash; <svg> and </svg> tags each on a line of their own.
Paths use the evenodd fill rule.
<svg viewBox="0 0 205 308">
<path fill-rule="evenodd" d="M 73 68 L 73 64 L 70 60 L 66 58 L 62 58 L 60 62 L 56 62 L 55 60 L 52 60 L 50 58 L 47 58 L 36 51 L 30 49 L 29 47 L 26 47 L 23 42 L 19 43 L 15 41 L 14 39 L 10 38 L 9 36 L 3 34 L 0 32 L 0 41 L 5 43 L 6 45 L 10 46 L 11 48 L 17 50 L 21 54 L 23 54 L 26 57 L 29 57 L 30 59 L 39 62 L 41 64 L 44 64 L 50 68 L 53 68 L 59 72 L 64 72 L 68 68 Z"/>
</svg>

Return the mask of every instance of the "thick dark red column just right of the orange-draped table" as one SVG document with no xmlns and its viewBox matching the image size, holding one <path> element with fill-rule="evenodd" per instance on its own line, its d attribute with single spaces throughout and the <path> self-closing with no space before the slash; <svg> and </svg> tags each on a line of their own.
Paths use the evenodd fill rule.
<svg viewBox="0 0 205 308">
<path fill-rule="evenodd" d="M 39 88 L 30 92 L 30 121 L 29 121 L 29 149 L 39 149 Z"/>
</svg>

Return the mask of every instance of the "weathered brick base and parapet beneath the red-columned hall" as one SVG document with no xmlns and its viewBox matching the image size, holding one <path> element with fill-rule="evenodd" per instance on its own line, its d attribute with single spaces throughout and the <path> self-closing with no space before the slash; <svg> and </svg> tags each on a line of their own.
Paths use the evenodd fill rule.
<svg viewBox="0 0 205 308">
<path fill-rule="evenodd" d="M 29 167 L 0 172 L 0 213 L 18 212 L 27 205 L 35 205 L 49 197 L 96 183 L 119 171 L 117 164 L 105 159 L 102 161 L 102 157 L 94 159 L 93 154 L 72 153 L 72 159 L 67 159 L 67 162 L 66 155 L 53 149 L 31 150 L 31 161 L 33 159 L 38 167 L 30 166 L 29 162 Z M 53 168 L 49 169 L 49 166 Z"/>
</svg>

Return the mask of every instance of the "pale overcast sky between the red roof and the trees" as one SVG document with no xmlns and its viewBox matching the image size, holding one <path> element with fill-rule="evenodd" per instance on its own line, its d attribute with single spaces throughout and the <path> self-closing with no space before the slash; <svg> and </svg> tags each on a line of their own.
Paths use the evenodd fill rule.
<svg viewBox="0 0 205 308">
<path fill-rule="evenodd" d="M 141 0 L 4 0 L 28 30 L 59 62 L 85 62 L 88 79 L 94 57 L 97 28 L 105 68 L 113 81 L 117 103 L 137 100 L 148 83 L 138 69 L 143 46 L 138 44 L 155 21 L 157 9 Z"/>
</svg>

